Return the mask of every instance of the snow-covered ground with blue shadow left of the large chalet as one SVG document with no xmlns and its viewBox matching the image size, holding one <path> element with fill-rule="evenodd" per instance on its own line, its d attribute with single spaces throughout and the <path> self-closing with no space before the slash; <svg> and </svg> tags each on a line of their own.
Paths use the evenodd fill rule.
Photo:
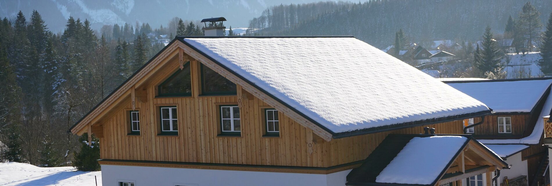
<svg viewBox="0 0 552 186">
<path fill-rule="evenodd" d="M 102 185 L 102 172 L 76 171 L 73 167 L 36 167 L 27 163 L 0 163 L 0 185 L 94 186 Z"/>
</svg>

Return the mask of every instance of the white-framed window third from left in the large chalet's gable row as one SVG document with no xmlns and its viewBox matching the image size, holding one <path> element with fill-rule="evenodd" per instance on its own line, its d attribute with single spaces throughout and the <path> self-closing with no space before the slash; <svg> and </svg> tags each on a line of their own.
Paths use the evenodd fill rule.
<svg viewBox="0 0 552 186">
<path fill-rule="evenodd" d="M 220 124 L 222 135 L 240 135 L 240 108 L 237 105 L 220 106 Z"/>
</svg>

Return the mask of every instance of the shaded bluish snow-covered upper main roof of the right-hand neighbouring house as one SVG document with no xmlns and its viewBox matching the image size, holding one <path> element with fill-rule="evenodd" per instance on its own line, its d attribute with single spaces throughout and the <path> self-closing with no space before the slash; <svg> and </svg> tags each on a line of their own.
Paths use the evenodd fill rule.
<svg viewBox="0 0 552 186">
<path fill-rule="evenodd" d="M 530 112 L 552 79 L 527 81 L 453 82 L 449 86 L 485 103 L 495 112 Z M 550 110 L 548 110 L 550 111 Z"/>
</svg>

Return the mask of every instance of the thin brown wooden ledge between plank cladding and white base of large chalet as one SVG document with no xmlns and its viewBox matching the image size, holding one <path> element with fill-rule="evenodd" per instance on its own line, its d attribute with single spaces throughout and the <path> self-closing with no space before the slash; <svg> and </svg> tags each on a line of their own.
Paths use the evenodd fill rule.
<svg viewBox="0 0 552 186">
<path fill-rule="evenodd" d="M 146 161 L 146 160 L 110 160 L 100 159 L 98 161 L 106 162 L 132 162 L 132 163 L 161 163 L 161 164 L 185 164 L 185 165 L 200 165 L 200 166 L 222 166 L 222 167 L 251 167 L 251 168 L 288 168 L 288 169 L 305 169 L 305 170 L 321 170 L 327 171 L 335 168 L 350 166 L 352 164 L 363 163 L 365 160 L 338 164 L 331 167 L 305 167 L 305 166 L 272 166 L 262 164 L 231 164 L 231 163 L 201 163 L 201 162 L 169 162 L 169 161 Z"/>
</svg>

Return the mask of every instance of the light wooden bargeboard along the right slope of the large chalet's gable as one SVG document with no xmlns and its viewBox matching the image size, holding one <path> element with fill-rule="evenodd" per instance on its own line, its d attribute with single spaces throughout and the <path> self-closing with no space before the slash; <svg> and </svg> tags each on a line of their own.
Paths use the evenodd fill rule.
<svg viewBox="0 0 552 186">
<path fill-rule="evenodd" d="M 291 110 L 290 108 L 286 107 L 284 104 L 278 102 L 276 99 L 270 97 L 268 94 L 265 94 L 261 90 L 253 87 L 251 84 L 243 81 L 243 79 L 238 78 L 236 75 L 233 75 L 233 73 L 226 71 L 221 66 L 217 65 L 217 63 L 209 60 L 207 57 L 199 54 L 194 49 L 190 48 L 189 46 L 183 44 L 182 42 L 177 42 L 177 45 L 179 47 L 182 47 L 184 52 L 186 52 L 188 55 L 193 57 L 194 59 L 201 62 L 203 65 L 211 68 L 215 72 L 219 73 L 222 77 L 225 77 L 226 79 L 229 79 L 231 82 L 239 84 L 242 86 L 243 89 L 245 89 L 247 92 L 255 95 L 257 98 L 263 100 L 263 102 L 271 105 L 275 109 L 281 111 L 285 115 L 287 115 L 289 118 L 296 121 L 298 124 L 307 127 L 312 130 L 316 135 L 319 135 L 322 137 L 322 139 L 326 141 L 332 140 L 332 134 L 330 132 L 322 129 L 320 126 L 312 123 L 310 120 L 304 118 L 299 113 L 296 113 L 294 110 Z"/>
</svg>

